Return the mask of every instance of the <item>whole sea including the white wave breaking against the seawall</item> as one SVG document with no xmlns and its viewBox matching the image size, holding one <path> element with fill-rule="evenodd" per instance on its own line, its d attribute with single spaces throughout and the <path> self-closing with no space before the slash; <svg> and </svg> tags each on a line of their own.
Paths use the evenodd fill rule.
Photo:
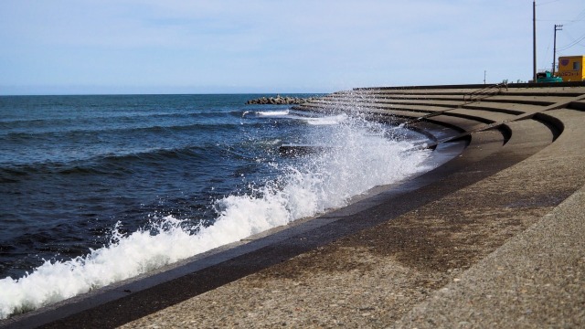
<svg viewBox="0 0 585 329">
<path fill-rule="evenodd" d="M 261 96 L 0 96 L 0 319 L 430 169 L 420 133 Z"/>
</svg>

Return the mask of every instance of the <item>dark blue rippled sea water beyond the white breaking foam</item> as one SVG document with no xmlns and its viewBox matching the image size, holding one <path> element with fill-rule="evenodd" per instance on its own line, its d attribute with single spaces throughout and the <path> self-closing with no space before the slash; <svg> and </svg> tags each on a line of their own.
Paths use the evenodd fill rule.
<svg viewBox="0 0 585 329">
<path fill-rule="evenodd" d="M 117 221 L 212 219 L 211 200 L 273 175 L 257 159 L 311 128 L 244 116 L 289 107 L 256 97 L 0 97 L 0 278 L 99 248 Z"/>
</svg>

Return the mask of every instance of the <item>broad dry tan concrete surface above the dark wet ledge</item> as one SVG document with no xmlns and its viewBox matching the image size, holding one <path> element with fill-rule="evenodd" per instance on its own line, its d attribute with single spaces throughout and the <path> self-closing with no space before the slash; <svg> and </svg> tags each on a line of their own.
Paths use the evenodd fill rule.
<svg viewBox="0 0 585 329">
<path fill-rule="evenodd" d="M 527 152 L 517 164 L 123 327 L 585 326 L 585 113 L 547 114 L 564 124 L 554 143 L 511 122 L 471 167 Z"/>
</svg>

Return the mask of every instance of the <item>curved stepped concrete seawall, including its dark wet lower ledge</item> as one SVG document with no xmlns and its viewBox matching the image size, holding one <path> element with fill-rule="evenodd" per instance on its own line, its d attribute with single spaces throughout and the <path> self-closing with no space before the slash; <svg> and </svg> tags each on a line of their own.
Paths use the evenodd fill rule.
<svg viewBox="0 0 585 329">
<path fill-rule="evenodd" d="M 432 125 L 437 149 L 461 154 L 350 207 L 0 325 L 585 326 L 584 83 L 356 89 L 298 110 Z"/>
</svg>

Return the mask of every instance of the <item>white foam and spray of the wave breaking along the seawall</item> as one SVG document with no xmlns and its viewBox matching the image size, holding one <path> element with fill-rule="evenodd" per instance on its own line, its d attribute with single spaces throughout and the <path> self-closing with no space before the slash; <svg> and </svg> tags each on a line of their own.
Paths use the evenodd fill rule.
<svg viewBox="0 0 585 329">
<path fill-rule="evenodd" d="M 327 140 L 315 141 L 335 143 L 335 148 L 295 166 L 279 168 L 282 174 L 278 179 L 252 186 L 247 195 L 218 200 L 218 217 L 212 226 L 184 228 L 181 221 L 166 217 L 154 225 L 154 231 L 138 230 L 122 236 L 114 229 L 109 246 L 90 250 L 90 254 L 74 260 L 46 261 L 17 280 L 0 280 L 0 318 L 152 271 L 298 218 L 343 207 L 351 196 L 427 169 L 420 163 L 428 151 L 412 151 L 411 143 L 388 140 L 379 125 L 348 118 L 339 122 L 335 133 L 326 134 Z"/>
</svg>

